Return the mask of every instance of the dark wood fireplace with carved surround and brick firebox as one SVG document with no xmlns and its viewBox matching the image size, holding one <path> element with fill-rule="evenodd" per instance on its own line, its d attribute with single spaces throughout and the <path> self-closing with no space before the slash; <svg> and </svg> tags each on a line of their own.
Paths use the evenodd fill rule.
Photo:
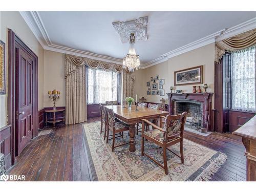
<svg viewBox="0 0 256 192">
<path fill-rule="evenodd" d="M 169 113 L 187 112 L 186 126 L 203 132 L 214 131 L 211 125 L 212 93 L 168 93 Z"/>
</svg>

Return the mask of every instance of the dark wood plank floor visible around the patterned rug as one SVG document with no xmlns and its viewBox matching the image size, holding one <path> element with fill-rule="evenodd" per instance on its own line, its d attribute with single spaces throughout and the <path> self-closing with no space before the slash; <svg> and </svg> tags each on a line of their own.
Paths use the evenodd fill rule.
<svg viewBox="0 0 256 192">
<path fill-rule="evenodd" d="M 88 122 L 98 121 L 98 118 Z M 228 159 L 212 181 L 245 181 L 246 158 L 241 138 L 213 133 L 203 137 L 190 132 L 185 138 L 224 152 Z M 34 138 L 16 159 L 9 174 L 26 175 L 26 181 L 91 181 L 92 175 L 80 124 L 59 126 Z"/>
</svg>

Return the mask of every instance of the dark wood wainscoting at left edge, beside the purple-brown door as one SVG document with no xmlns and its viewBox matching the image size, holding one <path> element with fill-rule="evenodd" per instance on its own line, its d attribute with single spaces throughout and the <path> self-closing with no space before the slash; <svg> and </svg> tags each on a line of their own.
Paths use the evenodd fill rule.
<svg viewBox="0 0 256 192">
<path fill-rule="evenodd" d="M 5 167 L 8 170 L 12 165 L 14 153 L 12 153 L 11 125 L 3 126 L 0 129 L 0 153 L 5 155 Z"/>
</svg>

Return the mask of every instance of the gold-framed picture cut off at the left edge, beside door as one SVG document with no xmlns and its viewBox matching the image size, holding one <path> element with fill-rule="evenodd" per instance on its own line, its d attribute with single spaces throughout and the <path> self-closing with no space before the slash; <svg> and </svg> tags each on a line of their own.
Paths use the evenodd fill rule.
<svg viewBox="0 0 256 192">
<path fill-rule="evenodd" d="M 0 95 L 5 94 L 5 43 L 0 40 Z"/>
</svg>

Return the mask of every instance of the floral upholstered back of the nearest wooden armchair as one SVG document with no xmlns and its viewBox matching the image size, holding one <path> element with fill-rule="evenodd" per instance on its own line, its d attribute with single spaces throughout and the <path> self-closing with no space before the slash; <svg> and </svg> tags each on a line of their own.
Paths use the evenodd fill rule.
<svg viewBox="0 0 256 192">
<path fill-rule="evenodd" d="M 179 115 L 167 115 L 164 122 L 165 141 L 176 137 L 183 137 L 187 112 Z"/>
</svg>

